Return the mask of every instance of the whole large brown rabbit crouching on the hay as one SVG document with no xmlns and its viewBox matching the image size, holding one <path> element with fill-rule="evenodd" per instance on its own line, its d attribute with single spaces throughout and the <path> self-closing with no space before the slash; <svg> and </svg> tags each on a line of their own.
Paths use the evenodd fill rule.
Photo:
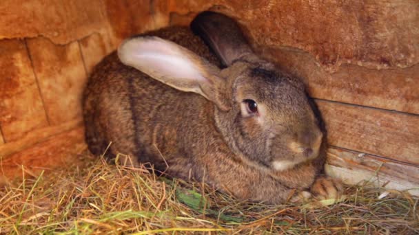
<svg viewBox="0 0 419 235">
<path fill-rule="evenodd" d="M 309 188 L 336 197 L 340 185 L 318 177 L 323 133 L 303 83 L 256 56 L 227 16 L 204 12 L 191 27 L 216 56 L 189 29 L 169 27 L 125 40 L 96 66 L 83 101 L 90 151 L 112 142 L 108 157 L 240 199 L 282 203 Z"/>
</svg>

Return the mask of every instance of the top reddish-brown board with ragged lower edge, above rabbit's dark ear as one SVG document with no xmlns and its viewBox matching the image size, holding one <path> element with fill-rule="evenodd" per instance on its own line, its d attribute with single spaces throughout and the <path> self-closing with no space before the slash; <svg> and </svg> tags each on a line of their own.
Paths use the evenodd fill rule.
<svg viewBox="0 0 419 235">
<path fill-rule="evenodd" d="M 342 63 L 369 68 L 419 63 L 419 3 L 406 1 L 153 1 L 168 14 L 223 12 L 257 45 L 302 49 L 333 71 Z M 345 30 L 343 30 L 345 29 Z"/>
</svg>

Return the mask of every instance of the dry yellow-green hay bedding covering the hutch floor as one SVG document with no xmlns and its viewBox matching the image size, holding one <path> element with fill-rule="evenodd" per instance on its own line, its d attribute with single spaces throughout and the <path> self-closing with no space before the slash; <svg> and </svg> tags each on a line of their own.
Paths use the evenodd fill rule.
<svg viewBox="0 0 419 235">
<path fill-rule="evenodd" d="M 417 234 L 418 199 L 362 186 L 340 203 L 268 206 L 91 159 L 0 192 L 0 234 Z"/>
</svg>

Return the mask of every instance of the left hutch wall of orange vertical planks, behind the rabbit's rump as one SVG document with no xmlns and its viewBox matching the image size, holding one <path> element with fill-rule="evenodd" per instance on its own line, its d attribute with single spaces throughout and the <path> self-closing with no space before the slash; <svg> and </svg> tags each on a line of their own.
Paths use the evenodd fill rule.
<svg viewBox="0 0 419 235">
<path fill-rule="evenodd" d="M 2 175 L 36 174 L 85 149 L 81 93 L 114 49 L 102 1 L 1 1 Z"/>
</svg>

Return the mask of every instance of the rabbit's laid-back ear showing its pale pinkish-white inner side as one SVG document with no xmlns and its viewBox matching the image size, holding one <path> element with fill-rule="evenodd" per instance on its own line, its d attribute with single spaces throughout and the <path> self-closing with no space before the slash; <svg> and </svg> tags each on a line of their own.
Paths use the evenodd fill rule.
<svg viewBox="0 0 419 235">
<path fill-rule="evenodd" d="M 118 49 L 124 65 L 181 91 L 198 93 L 223 111 L 229 110 L 220 70 L 185 47 L 156 36 L 125 40 Z"/>
</svg>

